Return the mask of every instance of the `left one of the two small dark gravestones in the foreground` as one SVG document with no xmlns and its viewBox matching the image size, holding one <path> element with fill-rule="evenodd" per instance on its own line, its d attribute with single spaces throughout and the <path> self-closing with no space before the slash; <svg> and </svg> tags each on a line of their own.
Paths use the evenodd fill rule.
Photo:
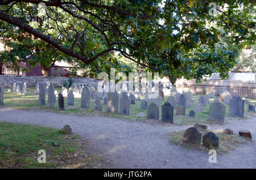
<svg viewBox="0 0 256 180">
<path fill-rule="evenodd" d="M 202 134 L 195 127 L 189 127 L 183 134 L 183 142 L 199 145 Z"/>
</svg>

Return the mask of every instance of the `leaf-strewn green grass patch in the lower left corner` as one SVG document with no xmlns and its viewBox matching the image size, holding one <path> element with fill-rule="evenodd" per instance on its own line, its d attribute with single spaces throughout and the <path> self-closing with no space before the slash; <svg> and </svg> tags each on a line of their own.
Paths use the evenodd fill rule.
<svg viewBox="0 0 256 180">
<path fill-rule="evenodd" d="M 39 163 L 38 151 L 46 151 Z M 55 128 L 0 123 L 0 168 L 96 168 L 102 157 L 89 153 L 78 135 Z"/>
</svg>

